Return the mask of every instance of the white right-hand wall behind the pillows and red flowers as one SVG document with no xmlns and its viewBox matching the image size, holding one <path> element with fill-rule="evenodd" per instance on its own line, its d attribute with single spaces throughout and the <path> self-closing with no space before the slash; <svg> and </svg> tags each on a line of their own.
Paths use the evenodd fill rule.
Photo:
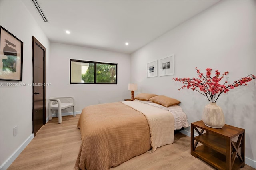
<svg viewBox="0 0 256 170">
<path fill-rule="evenodd" d="M 135 93 L 156 93 L 181 101 L 189 123 L 202 119 L 208 100 L 196 91 L 183 89 L 174 77 L 197 77 L 195 67 L 221 73 L 229 71 L 227 81 L 256 73 L 256 1 L 221 1 L 177 26 L 131 55 L 131 81 L 138 83 Z M 172 17 L 172 16 L 170 16 Z M 146 78 L 146 64 L 175 55 L 175 75 Z M 159 70 L 158 70 L 159 71 Z M 213 71 L 213 73 L 214 73 Z M 158 72 L 159 73 L 159 72 Z M 255 80 L 254 80 L 255 82 Z M 226 124 L 244 128 L 246 157 L 256 166 L 256 90 L 254 82 L 232 89 L 217 101 Z M 190 127 L 186 128 L 190 131 Z M 247 162 L 248 163 L 248 162 Z"/>
</svg>

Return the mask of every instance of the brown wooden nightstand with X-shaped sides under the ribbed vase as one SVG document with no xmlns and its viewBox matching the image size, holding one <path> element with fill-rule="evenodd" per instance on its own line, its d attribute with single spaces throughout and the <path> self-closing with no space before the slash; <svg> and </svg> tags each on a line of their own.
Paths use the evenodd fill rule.
<svg viewBox="0 0 256 170">
<path fill-rule="evenodd" d="M 198 128 L 201 130 L 199 131 Z M 194 130 L 199 134 L 196 137 L 194 137 Z M 203 133 L 204 130 L 206 133 Z M 230 125 L 216 129 L 204 125 L 203 121 L 191 123 L 191 155 L 219 170 L 243 168 L 245 165 L 244 132 L 244 129 Z M 238 139 L 234 142 L 236 137 Z M 197 146 L 198 142 L 202 145 Z"/>
</svg>

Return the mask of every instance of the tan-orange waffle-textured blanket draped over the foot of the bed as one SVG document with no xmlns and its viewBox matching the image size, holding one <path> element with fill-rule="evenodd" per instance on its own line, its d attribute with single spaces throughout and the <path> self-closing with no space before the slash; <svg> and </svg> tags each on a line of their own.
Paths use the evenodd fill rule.
<svg viewBox="0 0 256 170">
<path fill-rule="evenodd" d="M 78 121 L 82 144 L 74 167 L 76 170 L 107 170 L 152 148 L 150 141 L 152 143 L 155 137 L 149 125 L 154 123 L 149 123 L 141 111 L 136 111 L 138 108 L 132 107 L 116 102 L 92 105 L 82 110 Z M 173 142 L 174 134 L 171 136 Z"/>
</svg>

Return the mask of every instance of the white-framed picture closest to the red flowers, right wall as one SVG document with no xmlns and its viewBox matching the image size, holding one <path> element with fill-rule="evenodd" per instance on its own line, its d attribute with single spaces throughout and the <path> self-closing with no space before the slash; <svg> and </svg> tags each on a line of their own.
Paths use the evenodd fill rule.
<svg viewBox="0 0 256 170">
<path fill-rule="evenodd" d="M 159 60 L 160 76 L 174 75 L 174 55 Z"/>
</svg>

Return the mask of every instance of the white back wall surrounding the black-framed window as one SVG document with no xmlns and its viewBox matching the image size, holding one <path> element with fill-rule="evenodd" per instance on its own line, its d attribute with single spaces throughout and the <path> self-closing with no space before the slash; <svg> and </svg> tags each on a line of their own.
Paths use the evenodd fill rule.
<svg viewBox="0 0 256 170">
<path fill-rule="evenodd" d="M 61 43 L 51 43 L 50 48 L 48 71 L 51 75 L 46 83 L 51 83 L 51 86 L 46 91 L 47 98 L 72 95 L 76 99 L 76 111 L 82 111 L 88 105 L 96 105 L 99 100 L 101 103 L 109 103 L 130 98 L 130 55 Z M 118 63 L 118 83 L 70 84 L 70 59 Z"/>
</svg>

